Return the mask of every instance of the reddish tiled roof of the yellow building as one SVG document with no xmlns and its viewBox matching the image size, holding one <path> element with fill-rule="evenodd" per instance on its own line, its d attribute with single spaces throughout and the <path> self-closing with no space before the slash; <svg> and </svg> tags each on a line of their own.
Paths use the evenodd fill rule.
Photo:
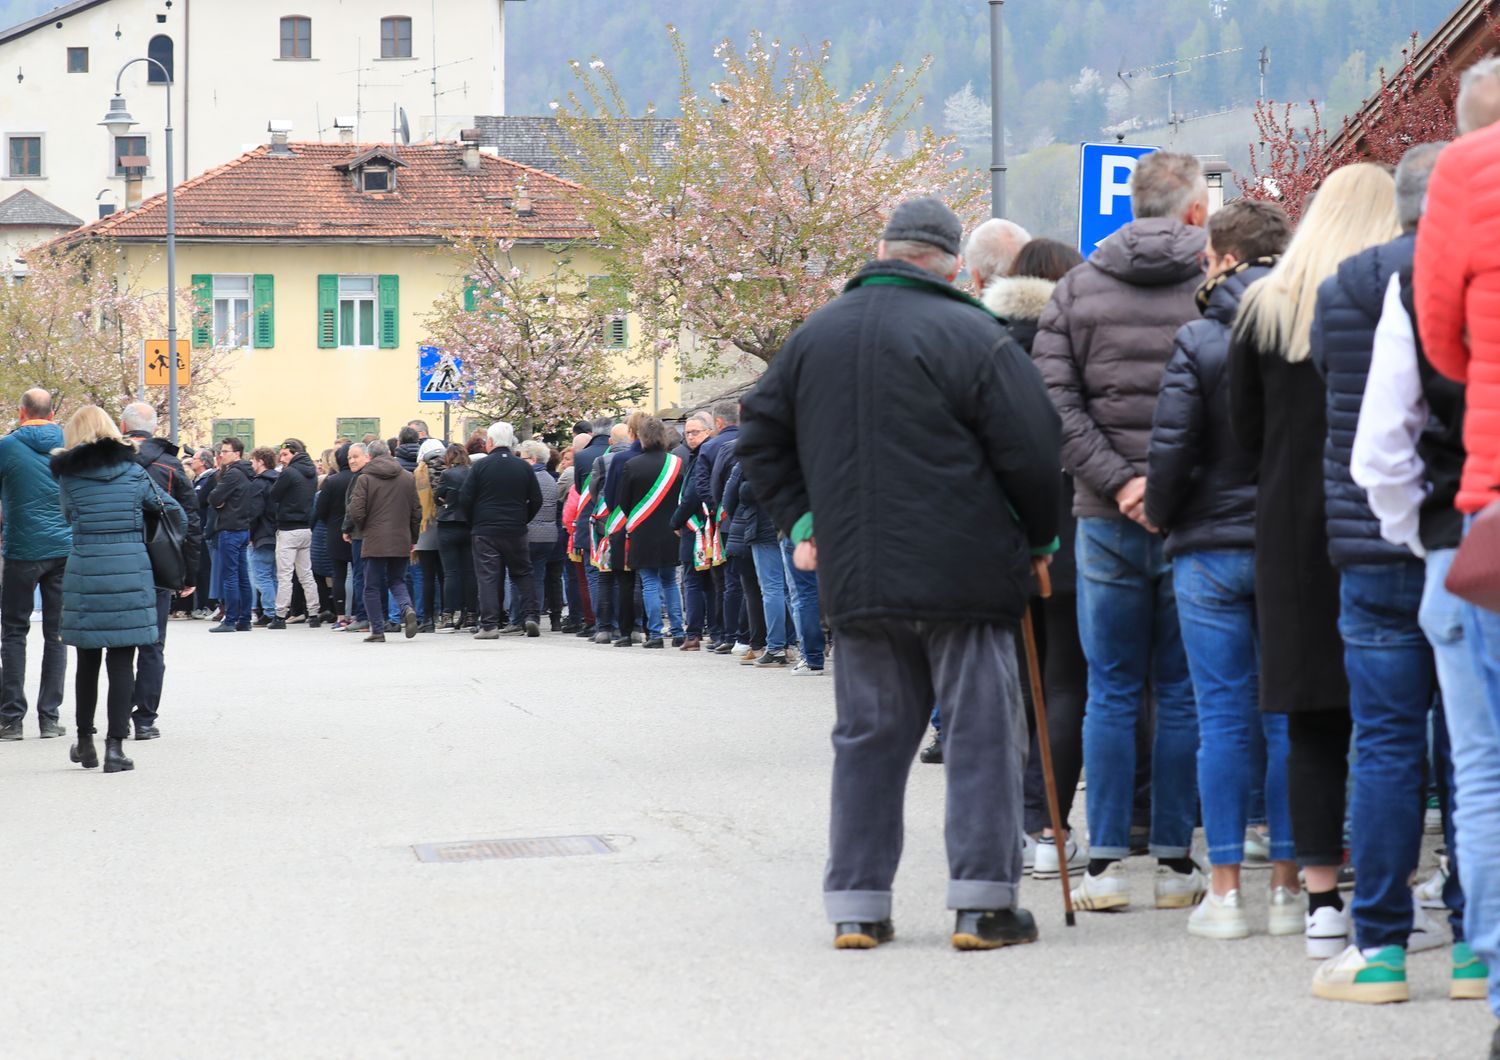
<svg viewBox="0 0 1500 1060">
<path fill-rule="evenodd" d="M 405 163 L 396 169 L 396 189 L 357 192 L 350 174 L 334 166 L 376 150 Z M 438 241 L 447 229 L 534 241 L 597 237 L 582 217 L 578 184 L 492 154 L 480 154 L 478 172 L 468 172 L 460 144 L 291 144 L 290 151 L 256 147 L 178 184 L 177 237 Z M 513 207 L 522 177 L 531 198 L 526 216 Z M 156 195 L 64 238 L 165 237 L 166 196 Z"/>
</svg>

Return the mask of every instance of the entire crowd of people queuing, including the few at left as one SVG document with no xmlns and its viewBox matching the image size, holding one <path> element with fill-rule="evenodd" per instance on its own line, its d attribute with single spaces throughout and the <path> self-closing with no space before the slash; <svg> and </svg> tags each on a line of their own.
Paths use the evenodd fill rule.
<svg viewBox="0 0 1500 1060">
<path fill-rule="evenodd" d="M 58 429 L 28 391 L 0 439 L 0 739 L 22 736 L 38 589 L 39 733 L 64 733 L 74 645 L 70 756 L 99 763 L 104 666 L 106 772 L 132 768 L 132 727 L 160 735 L 174 609 L 364 643 L 546 622 L 796 676 L 831 669 L 837 634 L 836 946 L 894 937 L 930 721 L 954 946 L 1036 937 L 1024 873 L 1128 909 L 1125 859 L 1149 853 L 1150 904 L 1203 939 L 1302 936 L 1330 1000 L 1406 1000 L 1407 954 L 1448 942 L 1424 904 L 1443 909 L 1450 997 L 1500 1014 L 1500 613 L 1450 577 L 1496 570 L 1500 60 L 1456 111 L 1455 142 L 1336 169 L 1298 223 L 1210 213 L 1194 157 L 1144 156 L 1134 220 L 1088 259 L 908 201 L 744 402 L 681 433 L 638 412 L 564 447 L 508 423 L 447 444 L 412 421 L 318 459 L 225 438 L 184 466 L 147 405 Z M 194 586 L 153 585 L 152 520 Z M 1023 616 L 1060 820 L 1082 777 L 1086 837 L 1052 828 Z M 1446 861 L 1422 882 L 1430 793 Z M 1269 868 L 1263 925 L 1246 867 Z"/>
</svg>

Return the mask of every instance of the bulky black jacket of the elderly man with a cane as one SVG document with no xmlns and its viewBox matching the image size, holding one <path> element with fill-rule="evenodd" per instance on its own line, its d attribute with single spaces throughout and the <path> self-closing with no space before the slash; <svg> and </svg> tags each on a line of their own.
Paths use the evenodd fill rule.
<svg viewBox="0 0 1500 1060">
<path fill-rule="evenodd" d="M 1014 624 L 1032 549 L 1056 543 L 1059 448 L 1041 375 L 994 315 L 876 261 L 786 340 L 744 399 L 736 454 L 783 532 L 814 514 L 834 625 Z"/>
</svg>

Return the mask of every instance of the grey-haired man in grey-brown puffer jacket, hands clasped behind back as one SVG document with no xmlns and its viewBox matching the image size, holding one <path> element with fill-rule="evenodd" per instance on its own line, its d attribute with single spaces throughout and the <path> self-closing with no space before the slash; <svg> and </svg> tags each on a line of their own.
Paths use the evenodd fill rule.
<svg viewBox="0 0 1500 1060">
<path fill-rule="evenodd" d="M 1136 717 L 1156 700 L 1150 850 L 1155 904 L 1196 904 L 1208 882 L 1190 856 L 1197 814 L 1197 703 L 1178 630 L 1172 565 L 1146 517 L 1146 450 L 1178 328 L 1198 319 L 1203 168 L 1155 151 L 1131 174 L 1136 220 L 1058 283 L 1032 355 L 1062 417 L 1062 466 L 1078 516 L 1078 633 L 1089 663 L 1083 721 L 1089 871 L 1080 909 L 1130 903 L 1124 859 L 1136 777 Z"/>
</svg>

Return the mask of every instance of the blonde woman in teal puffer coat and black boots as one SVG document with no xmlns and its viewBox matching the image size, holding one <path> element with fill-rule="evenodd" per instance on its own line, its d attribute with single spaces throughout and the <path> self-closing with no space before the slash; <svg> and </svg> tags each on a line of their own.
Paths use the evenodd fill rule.
<svg viewBox="0 0 1500 1060">
<path fill-rule="evenodd" d="M 146 553 L 146 514 L 171 519 L 188 532 L 182 507 L 147 478 L 114 421 L 86 405 L 63 426 L 52 453 L 63 517 L 74 532 L 63 568 L 63 643 L 78 654 L 74 699 L 78 742 L 69 757 L 84 769 L 99 765 L 93 744 L 99 667 L 110 675 L 104 771 L 134 769 L 122 741 L 130 730 L 135 649 L 156 643 L 156 582 Z M 108 657 L 108 658 L 106 658 Z"/>
</svg>

